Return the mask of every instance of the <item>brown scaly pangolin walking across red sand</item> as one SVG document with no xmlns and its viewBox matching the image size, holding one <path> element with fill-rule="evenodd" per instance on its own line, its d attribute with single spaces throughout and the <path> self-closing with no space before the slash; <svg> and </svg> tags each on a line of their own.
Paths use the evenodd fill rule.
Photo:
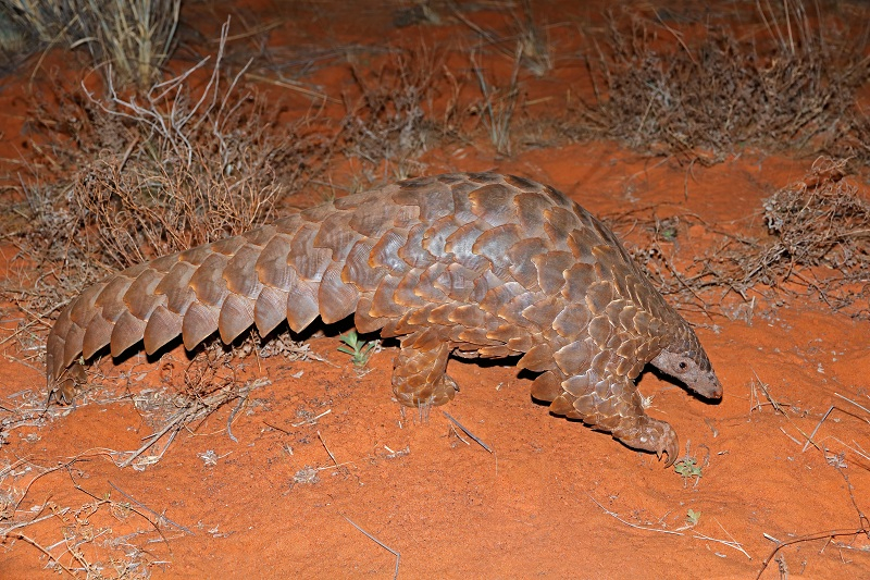
<svg viewBox="0 0 870 580">
<path fill-rule="evenodd" d="M 400 338 L 402 405 L 453 397 L 450 354 L 522 355 L 518 367 L 539 373 L 532 396 L 555 415 L 668 465 L 678 437 L 644 411 L 644 366 L 722 394 L 695 332 L 610 230 L 549 186 L 495 173 L 402 181 L 119 272 L 60 313 L 48 384 L 71 402 L 73 362 L 107 345 L 116 357 L 142 342 L 150 355 L 179 334 L 192 349 L 215 330 L 228 344 L 254 324 L 299 332 L 350 314 L 361 333 Z"/>
</svg>

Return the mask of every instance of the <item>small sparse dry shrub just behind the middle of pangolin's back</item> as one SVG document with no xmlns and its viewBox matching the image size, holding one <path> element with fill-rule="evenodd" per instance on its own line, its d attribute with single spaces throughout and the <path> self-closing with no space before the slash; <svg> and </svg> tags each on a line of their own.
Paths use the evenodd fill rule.
<svg viewBox="0 0 870 580">
<path fill-rule="evenodd" d="M 421 46 L 390 49 L 376 70 L 351 62 L 359 96 L 345 97 L 346 155 L 377 166 L 393 165 L 399 177 L 407 177 L 434 143 L 456 136 L 461 123 L 461 83 L 447 69 L 445 58 Z"/>
</svg>

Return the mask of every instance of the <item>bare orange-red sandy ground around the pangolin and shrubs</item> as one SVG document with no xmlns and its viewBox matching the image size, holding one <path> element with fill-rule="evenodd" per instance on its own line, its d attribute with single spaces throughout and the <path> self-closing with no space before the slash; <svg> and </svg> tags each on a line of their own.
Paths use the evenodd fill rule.
<svg viewBox="0 0 870 580">
<path fill-rule="evenodd" d="M 214 8 L 208 22 L 232 9 Z M 473 38 L 451 20 L 420 32 L 426 27 L 395 28 L 386 9 L 351 14 L 330 4 L 320 18 L 324 12 L 328 26 L 291 21 L 273 44 Z M 587 17 L 563 12 L 547 5 L 542 17 Z M 551 28 L 564 65 L 536 82 L 543 97 L 588 90 L 568 58 L 572 26 Z M 325 66 L 313 81 L 339 96 L 347 83 L 339 69 Z M 16 158 L 26 140 L 21 91 L 29 73 L 16 74 L 0 90 L 4 158 Z M 276 98 L 310 104 L 297 94 Z M 756 233 L 761 200 L 811 162 L 746 152 L 695 166 L 687 178 L 672 160 L 613 144 L 526 147 L 499 158 L 483 140 L 428 151 L 423 161 L 427 173 L 530 176 L 599 215 L 656 205 L 661 214 L 688 211 Z M 352 170 L 333 178 L 341 183 Z M 696 225 L 672 249 L 700 255 L 711 240 Z M 22 267 L 13 258 L 11 245 L 0 246 L 5 275 Z M 21 322 L 14 309 L 2 312 L 0 341 Z M 170 416 L 147 402 L 165 404 L 156 393 L 182 382 L 187 357 L 176 349 L 159 361 L 103 360 L 96 371 L 107 386 L 15 429 L 0 447 L 3 493 L 27 491 L 15 517 L 41 518 L 16 530 L 27 540 L 0 543 L 0 577 L 57 577 L 38 545 L 80 578 L 84 563 L 130 578 L 391 578 L 397 567 L 400 578 L 754 578 L 762 568 L 761 578 L 870 578 L 870 540 L 849 533 L 868 527 L 870 323 L 799 298 L 776 307 L 759 298 L 747 312 L 685 313 L 724 385 L 721 403 L 651 372 L 638 381 L 654 397 L 649 414 L 667 419 L 703 465 L 701 477 L 687 480 L 655 456 L 550 416 L 509 361 L 452 360 L 448 371 L 462 387 L 455 402 L 427 419 L 403 411 L 389 386 L 395 346 L 360 374 L 336 350 L 334 329 L 310 338 L 323 361 L 250 358 L 221 369 L 268 381 L 239 412 L 231 404 L 182 431 L 153 465 L 120 468 L 114 452 L 138 448 L 160 428 L 156 417 Z M 0 417 L 9 417 L 45 397 L 45 375 L 38 350 L 0 345 Z M 768 563 L 778 541 L 786 545 Z"/>
</svg>

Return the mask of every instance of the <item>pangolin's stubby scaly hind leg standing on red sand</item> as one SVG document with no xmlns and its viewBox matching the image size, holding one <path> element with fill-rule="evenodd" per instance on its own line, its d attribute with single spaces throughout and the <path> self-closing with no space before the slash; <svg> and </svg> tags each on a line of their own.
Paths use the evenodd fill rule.
<svg viewBox="0 0 870 580">
<path fill-rule="evenodd" d="M 450 356 L 449 343 L 438 340 L 431 329 L 401 340 L 393 371 L 393 392 L 407 407 L 449 403 L 459 387 L 445 373 Z"/>
</svg>

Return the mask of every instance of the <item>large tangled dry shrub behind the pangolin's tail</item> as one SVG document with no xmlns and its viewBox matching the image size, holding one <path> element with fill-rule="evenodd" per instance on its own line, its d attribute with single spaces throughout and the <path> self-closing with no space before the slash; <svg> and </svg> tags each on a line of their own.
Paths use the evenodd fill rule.
<svg viewBox="0 0 870 580">
<path fill-rule="evenodd" d="M 316 173 L 328 138 L 308 119 L 278 125 L 221 53 L 199 92 L 206 61 L 138 96 L 55 85 L 33 123 L 48 144 L 34 139 L 32 166 L 51 172 L 24 186 L 16 240 L 41 274 L 7 288 L 20 306 L 50 311 L 110 271 L 249 230 Z"/>
</svg>

